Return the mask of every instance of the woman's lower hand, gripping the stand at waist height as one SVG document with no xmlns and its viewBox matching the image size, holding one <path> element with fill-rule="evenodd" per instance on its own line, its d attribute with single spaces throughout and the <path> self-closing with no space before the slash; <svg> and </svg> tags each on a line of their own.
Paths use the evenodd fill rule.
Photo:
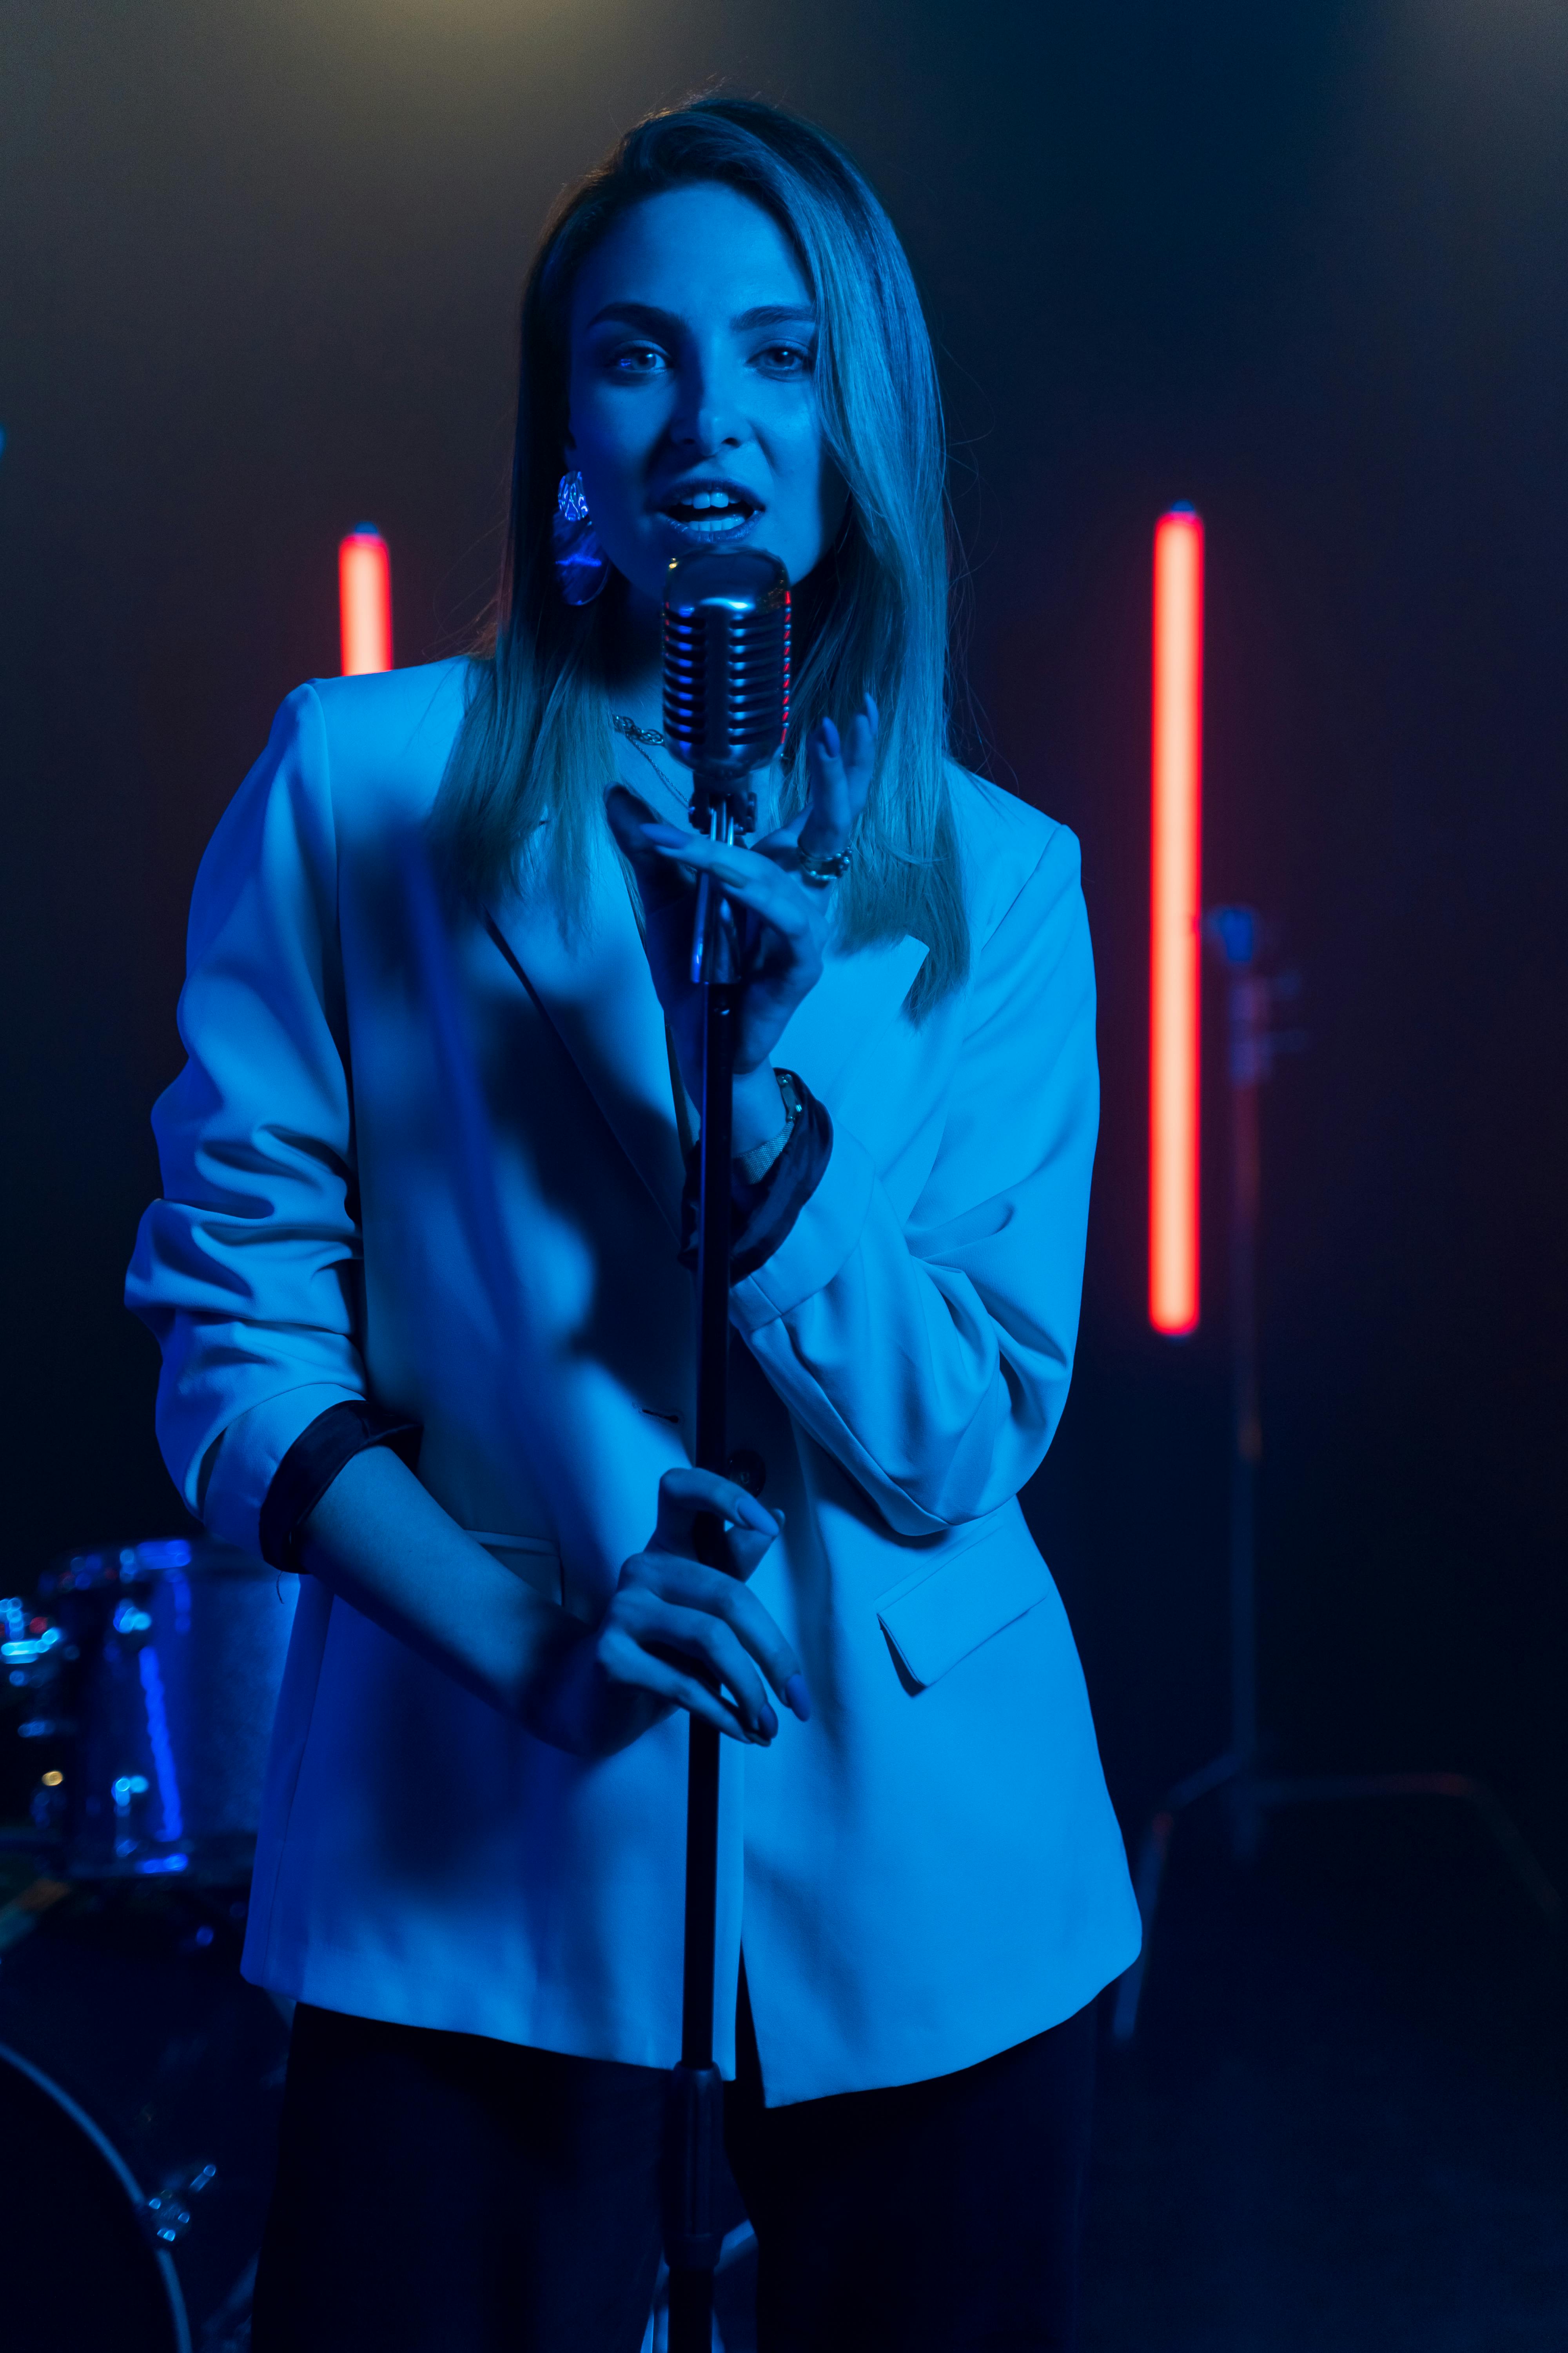
<svg viewBox="0 0 1568 2353">
<path fill-rule="evenodd" d="M 696 1558 L 698 1513 L 726 1522 L 724 1569 Z M 658 1525 L 623 1565 L 609 1609 L 541 1661 L 522 1708 L 529 1732 L 574 1755 L 614 1755 L 686 1708 L 733 1741 L 769 1748 L 778 1715 L 766 1685 L 804 1722 L 799 1659 L 745 1584 L 776 1534 L 773 1513 L 733 1480 L 665 1471 Z"/>
</svg>

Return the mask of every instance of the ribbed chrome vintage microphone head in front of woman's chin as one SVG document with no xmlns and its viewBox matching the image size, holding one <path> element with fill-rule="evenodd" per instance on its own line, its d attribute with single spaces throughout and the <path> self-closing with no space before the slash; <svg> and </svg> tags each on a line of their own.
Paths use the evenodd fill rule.
<svg viewBox="0 0 1568 2353">
<path fill-rule="evenodd" d="M 759 548 L 677 555 L 665 588 L 665 744 L 741 784 L 790 722 L 790 579 Z"/>
</svg>

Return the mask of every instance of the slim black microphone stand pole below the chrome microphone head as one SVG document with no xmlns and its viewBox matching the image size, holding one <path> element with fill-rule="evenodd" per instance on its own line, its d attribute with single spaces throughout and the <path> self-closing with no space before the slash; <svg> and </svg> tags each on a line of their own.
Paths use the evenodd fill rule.
<svg viewBox="0 0 1568 2353">
<path fill-rule="evenodd" d="M 750 795 L 731 798 L 719 779 L 696 774 L 693 821 L 715 842 L 736 838 Z M 736 800 L 741 809 L 736 809 Z M 698 878 L 691 979 L 703 988 L 703 1134 L 698 1141 L 698 1372 L 696 1466 L 729 1466 L 729 1139 L 736 1073 L 731 925 L 724 896 Z M 698 1513 L 696 1555 L 724 1567 L 724 1520 Z M 724 2080 L 712 2064 L 715 1934 L 719 1894 L 719 1732 L 689 1720 L 686 1755 L 686 1960 L 682 1974 L 682 2054 L 670 2078 L 665 2115 L 665 2261 L 670 2264 L 670 2353 L 710 2353 L 712 2275 L 724 2148 Z"/>
</svg>

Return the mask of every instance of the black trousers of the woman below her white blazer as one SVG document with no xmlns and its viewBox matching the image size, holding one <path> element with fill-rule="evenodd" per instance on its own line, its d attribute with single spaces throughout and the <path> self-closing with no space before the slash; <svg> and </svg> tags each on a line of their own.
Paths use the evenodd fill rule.
<svg viewBox="0 0 1568 2353">
<path fill-rule="evenodd" d="M 997 2059 L 764 2108 L 729 2162 L 759 2353 L 1067 2353 L 1093 2005 Z M 637 2353 L 665 2075 L 301 2002 L 254 2353 Z"/>
</svg>

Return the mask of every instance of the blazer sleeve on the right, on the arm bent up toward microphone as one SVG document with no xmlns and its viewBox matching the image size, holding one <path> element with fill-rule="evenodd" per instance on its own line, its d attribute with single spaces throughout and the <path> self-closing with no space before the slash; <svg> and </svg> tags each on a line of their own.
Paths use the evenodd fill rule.
<svg viewBox="0 0 1568 2353">
<path fill-rule="evenodd" d="M 997 1511 L 1046 1454 L 1098 1115 L 1079 849 L 1058 826 L 976 955 L 943 1141 L 907 1221 L 844 1104 L 792 1233 L 731 1294 L 783 1402 L 898 1534 Z"/>
</svg>

